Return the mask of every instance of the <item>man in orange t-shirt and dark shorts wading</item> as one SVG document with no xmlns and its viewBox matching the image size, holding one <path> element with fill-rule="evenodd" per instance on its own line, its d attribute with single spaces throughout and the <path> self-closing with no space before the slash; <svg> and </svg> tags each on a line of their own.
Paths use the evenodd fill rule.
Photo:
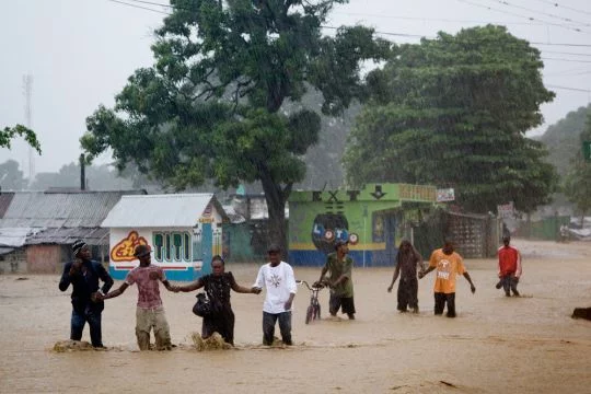
<svg viewBox="0 0 591 394">
<path fill-rule="evenodd" d="M 443 314 L 443 308 L 448 303 L 448 317 L 455 317 L 455 276 L 461 274 L 470 283 L 472 293 L 476 291 L 476 287 L 472 282 L 472 278 L 464 267 L 462 256 L 454 252 L 453 243 L 445 241 L 442 248 L 433 251 L 429 258 L 429 268 L 424 273 L 419 273 L 421 279 L 427 274 L 437 269 L 437 278 L 434 282 L 434 314 Z"/>
</svg>

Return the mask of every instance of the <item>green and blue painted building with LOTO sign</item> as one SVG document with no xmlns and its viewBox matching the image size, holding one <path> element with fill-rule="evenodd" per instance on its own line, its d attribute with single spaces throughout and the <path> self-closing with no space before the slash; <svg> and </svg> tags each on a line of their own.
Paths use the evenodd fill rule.
<svg viewBox="0 0 591 394">
<path fill-rule="evenodd" d="M 292 192 L 289 263 L 322 266 L 337 240 L 349 241 L 358 266 L 392 265 L 412 224 L 437 202 L 434 186 L 368 184 L 359 190 Z"/>
</svg>

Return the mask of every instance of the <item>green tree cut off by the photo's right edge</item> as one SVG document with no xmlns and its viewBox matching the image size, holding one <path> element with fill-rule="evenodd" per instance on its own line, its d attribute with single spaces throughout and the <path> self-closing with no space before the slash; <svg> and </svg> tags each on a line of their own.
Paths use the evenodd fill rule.
<svg viewBox="0 0 591 394">
<path fill-rule="evenodd" d="M 565 179 L 565 195 L 582 217 L 591 211 L 591 162 L 583 158 L 583 141 L 591 141 L 591 113 L 587 115 L 586 127 L 579 137 L 579 149 Z"/>
</svg>

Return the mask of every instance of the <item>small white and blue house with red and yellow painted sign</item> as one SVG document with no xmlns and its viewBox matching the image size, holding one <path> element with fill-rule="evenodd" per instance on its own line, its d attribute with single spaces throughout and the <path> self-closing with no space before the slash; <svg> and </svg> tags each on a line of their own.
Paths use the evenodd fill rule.
<svg viewBox="0 0 591 394">
<path fill-rule="evenodd" d="M 109 229 L 109 273 L 124 279 L 139 263 L 138 245 L 149 245 L 152 263 L 171 280 L 195 280 L 223 255 L 222 223 L 228 217 L 213 194 L 124 196 L 103 227 Z"/>
</svg>

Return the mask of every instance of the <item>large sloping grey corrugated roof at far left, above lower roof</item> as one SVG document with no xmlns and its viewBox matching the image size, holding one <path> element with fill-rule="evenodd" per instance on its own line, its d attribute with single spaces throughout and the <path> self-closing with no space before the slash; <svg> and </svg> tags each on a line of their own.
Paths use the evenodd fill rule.
<svg viewBox="0 0 591 394">
<path fill-rule="evenodd" d="M 0 228 L 97 228 L 123 195 L 143 190 L 43 193 L 18 192 Z"/>
</svg>

